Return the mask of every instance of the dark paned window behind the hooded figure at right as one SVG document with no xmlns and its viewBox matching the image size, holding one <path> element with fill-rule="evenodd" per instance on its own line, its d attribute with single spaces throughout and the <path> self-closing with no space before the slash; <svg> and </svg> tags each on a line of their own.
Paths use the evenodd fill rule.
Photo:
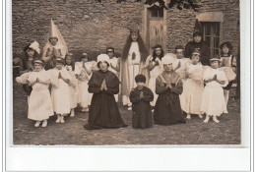
<svg viewBox="0 0 256 172">
<path fill-rule="evenodd" d="M 202 22 L 203 37 L 208 43 L 211 55 L 220 54 L 220 22 Z"/>
</svg>

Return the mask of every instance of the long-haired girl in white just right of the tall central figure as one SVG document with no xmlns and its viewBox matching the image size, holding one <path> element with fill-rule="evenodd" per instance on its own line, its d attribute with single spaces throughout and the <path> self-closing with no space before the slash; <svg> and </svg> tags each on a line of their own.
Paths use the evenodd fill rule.
<svg viewBox="0 0 256 172">
<path fill-rule="evenodd" d="M 153 55 L 150 55 L 146 60 L 146 65 L 148 65 L 149 71 L 150 71 L 150 81 L 149 81 L 149 88 L 154 93 L 154 100 L 151 101 L 151 106 L 154 107 L 156 105 L 158 94 L 156 93 L 156 80 L 159 77 L 160 73 L 162 72 L 162 64 L 161 64 L 161 58 L 164 55 L 164 51 L 161 47 L 161 45 L 156 45 L 154 47 Z"/>
</svg>

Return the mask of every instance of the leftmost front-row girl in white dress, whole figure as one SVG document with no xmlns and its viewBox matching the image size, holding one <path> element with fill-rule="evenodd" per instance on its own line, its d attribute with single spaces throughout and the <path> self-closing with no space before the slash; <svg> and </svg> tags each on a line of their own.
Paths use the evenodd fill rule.
<svg viewBox="0 0 256 172">
<path fill-rule="evenodd" d="M 43 62 L 41 60 L 34 60 L 32 64 L 34 71 L 30 73 L 28 78 L 29 86 L 32 86 L 28 118 L 36 121 L 34 127 L 39 127 L 41 121 L 43 121 L 42 127 L 46 127 L 47 119 L 54 114 L 48 89 L 50 79 L 47 72 L 42 68 Z"/>
</svg>

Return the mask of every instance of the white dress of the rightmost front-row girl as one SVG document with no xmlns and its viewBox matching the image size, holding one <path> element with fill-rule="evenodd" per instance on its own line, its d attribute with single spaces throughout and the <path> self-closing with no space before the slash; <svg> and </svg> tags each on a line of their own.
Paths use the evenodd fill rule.
<svg viewBox="0 0 256 172">
<path fill-rule="evenodd" d="M 213 79 L 217 75 L 218 80 L 224 81 L 226 86 L 228 81 L 221 69 L 207 68 L 204 73 L 204 81 Z M 206 84 L 203 94 L 201 111 L 210 116 L 221 116 L 227 113 L 224 101 L 224 88 L 216 81 Z"/>
</svg>

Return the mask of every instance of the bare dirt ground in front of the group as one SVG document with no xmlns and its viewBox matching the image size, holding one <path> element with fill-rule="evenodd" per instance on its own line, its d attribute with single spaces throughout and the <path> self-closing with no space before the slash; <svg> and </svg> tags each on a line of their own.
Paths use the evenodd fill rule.
<svg viewBox="0 0 256 172">
<path fill-rule="evenodd" d="M 13 143 L 14 144 L 239 144 L 240 114 L 239 100 L 234 100 L 231 89 L 228 114 L 221 116 L 220 123 L 212 120 L 205 124 L 203 119 L 193 116 L 186 124 L 172 126 L 155 125 L 151 129 L 132 128 L 131 111 L 119 104 L 120 113 L 128 127 L 121 129 L 84 130 L 88 113 L 76 112 L 66 117 L 64 124 L 56 124 L 52 116 L 46 128 L 34 128 L 34 122 L 27 118 L 27 95 L 23 87 L 14 82 Z"/>
</svg>

